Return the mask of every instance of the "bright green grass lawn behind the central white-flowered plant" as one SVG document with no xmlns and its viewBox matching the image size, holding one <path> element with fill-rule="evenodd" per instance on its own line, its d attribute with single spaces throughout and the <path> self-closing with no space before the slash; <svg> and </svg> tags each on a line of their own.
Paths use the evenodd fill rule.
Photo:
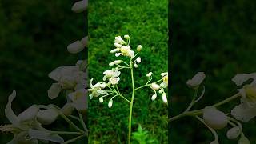
<svg viewBox="0 0 256 144">
<path fill-rule="evenodd" d="M 130 45 L 136 51 L 141 44 L 142 63 L 135 70 L 135 86 L 146 83 L 146 74 L 152 71 L 154 80 L 167 71 L 167 1 L 90 1 L 89 5 L 89 75 L 94 82 L 102 82 L 103 71 L 109 70 L 109 62 L 116 57 L 110 54 L 114 49 L 114 37 L 129 34 Z M 126 59 L 127 60 L 127 59 Z M 131 94 L 130 71 L 122 70 L 119 90 L 129 98 Z M 121 88 L 120 88 L 121 87 Z M 138 90 L 134 99 L 132 130 L 138 123 L 149 131 L 150 138 L 167 143 L 167 107 L 159 95 L 150 100 L 152 90 Z M 108 99 L 109 100 L 109 99 Z M 126 143 L 128 134 L 129 106 L 122 98 L 114 98 L 111 109 L 108 101 L 89 101 L 90 143 Z"/>
</svg>

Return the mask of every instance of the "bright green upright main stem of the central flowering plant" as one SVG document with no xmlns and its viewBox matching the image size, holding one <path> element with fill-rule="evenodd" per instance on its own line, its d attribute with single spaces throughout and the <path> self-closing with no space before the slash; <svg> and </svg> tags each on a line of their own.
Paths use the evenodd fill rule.
<svg viewBox="0 0 256 144">
<path fill-rule="evenodd" d="M 130 112 L 129 112 L 129 124 L 128 124 L 128 144 L 130 144 L 131 141 L 131 118 L 132 118 L 132 113 L 133 113 L 133 104 L 134 104 L 134 94 L 135 94 L 135 88 L 134 88 L 134 70 L 133 70 L 133 64 L 132 64 L 132 59 L 130 58 L 130 74 L 131 74 L 131 82 L 133 86 L 133 93 L 131 96 L 130 100 Z"/>
</svg>

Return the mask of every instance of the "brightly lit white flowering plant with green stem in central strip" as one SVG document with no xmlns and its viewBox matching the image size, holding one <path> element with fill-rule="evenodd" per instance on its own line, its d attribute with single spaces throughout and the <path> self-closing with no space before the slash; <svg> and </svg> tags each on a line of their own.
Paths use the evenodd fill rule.
<svg viewBox="0 0 256 144">
<path fill-rule="evenodd" d="M 136 92 L 143 88 L 150 88 L 152 90 L 152 95 L 150 99 L 154 101 L 158 95 L 162 96 L 162 102 L 167 104 L 167 94 L 166 89 L 168 87 L 168 72 L 163 72 L 160 78 L 156 82 L 152 82 L 153 73 L 149 72 L 145 74 L 145 78 L 147 78 L 147 82 L 145 82 L 142 86 L 134 85 L 134 72 L 139 68 L 139 64 L 142 62 L 142 58 L 139 57 L 139 54 L 142 52 L 142 46 L 138 45 L 136 52 L 132 50 L 130 46 L 130 36 L 124 35 L 123 38 L 121 36 L 117 36 L 114 38 L 114 49 L 110 50 L 110 54 L 114 54 L 116 58 L 120 58 L 114 60 L 109 63 L 111 67 L 109 70 L 105 70 L 102 72 L 102 82 L 94 83 L 94 78 L 90 79 L 90 89 L 89 96 L 90 99 L 98 98 L 99 102 L 108 102 L 108 107 L 111 108 L 114 106 L 115 98 L 122 98 L 124 102 L 126 102 L 130 106 L 129 116 L 128 116 L 128 138 L 127 141 L 130 144 L 131 142 L 131 125 L 132 125 L 132 117 L 133 117 L 133 106 L 134 106 L 134 97 L 136 97 Z M 122 60 L 123 59 L 123 60 Z M 126 79 L 121 79 L 120 75 L 122 74 L 122 70 L 130 71 L 130 82 L 132 91 L 130 94 L 123 94 L 122 90 L 119 89 L 118 84 L 122 81 L 126 82 Z M 129 82 L 129 83 L 130 83 Z M 128 84 L 129 84 L 128 83 Z"/>
</svg>

